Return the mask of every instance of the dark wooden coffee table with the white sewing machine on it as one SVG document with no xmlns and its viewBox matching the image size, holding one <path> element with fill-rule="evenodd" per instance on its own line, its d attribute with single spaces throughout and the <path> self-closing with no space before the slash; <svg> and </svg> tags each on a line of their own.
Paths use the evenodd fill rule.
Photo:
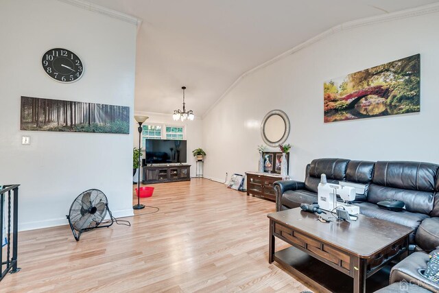
<svg viewBox="0 0 439 293">
<path fill-rule="evenodd" d="M 268 218 L 268 261 L 281 263 L 322 292 L 366 292 L 366 279 L 392 259 L 407 256 L 413 231 L 365 215 L 352 222 L 322 223 L 300 208 L 269 213 Z M 292 246 L 275 252 L 275 237 Z M 382 285 L 388 284 L 384 281 Z"/>
</svg>

